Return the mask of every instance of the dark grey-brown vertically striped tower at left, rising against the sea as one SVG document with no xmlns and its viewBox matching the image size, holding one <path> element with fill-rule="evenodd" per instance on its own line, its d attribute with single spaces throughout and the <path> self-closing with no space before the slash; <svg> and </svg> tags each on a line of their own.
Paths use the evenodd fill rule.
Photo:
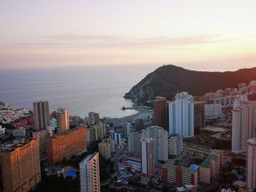
<svg viewBox="0 0 256 192">
<path fill-rule="evenodd" d="M 38 101 L 33 103 L 34 129 L 39 130 L 50 126 L 50 114 L 48 101 Z"/>
</svg>

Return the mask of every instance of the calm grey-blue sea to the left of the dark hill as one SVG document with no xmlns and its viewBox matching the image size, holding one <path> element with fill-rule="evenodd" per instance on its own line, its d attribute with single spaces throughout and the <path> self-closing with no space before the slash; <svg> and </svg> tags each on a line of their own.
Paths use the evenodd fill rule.
<svg viewBox="0 0 256 192">
<path fill-rule="evenodd" d="M 84 66 L 62 69 L 0 70 L 0 100 L 32 110 L 33 101 L 49 101 L 50 112 L 67 107 L 70 115 L 121 118 L 135 114 L 124 93 L 156 65 Z"/>
</svg>

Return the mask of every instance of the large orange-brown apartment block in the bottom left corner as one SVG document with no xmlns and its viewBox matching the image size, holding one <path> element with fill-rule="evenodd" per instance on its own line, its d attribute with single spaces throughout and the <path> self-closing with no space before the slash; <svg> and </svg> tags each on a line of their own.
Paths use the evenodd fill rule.
<svg viewBox="0 0 256 192">
<path fill-rule="evenodd" d="M 13 145 L 1 153 L 1 177 L 4 192 L 26 192 L 41 180 L 37 140 Z"/>
</svg>

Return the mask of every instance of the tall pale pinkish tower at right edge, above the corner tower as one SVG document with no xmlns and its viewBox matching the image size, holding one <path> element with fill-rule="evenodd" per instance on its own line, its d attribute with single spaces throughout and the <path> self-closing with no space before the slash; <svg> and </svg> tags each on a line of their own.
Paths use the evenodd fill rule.
<svg viewBox="0 0 256 192">
<path fill-rule="evenodd" d="M 252 101 L 232 111 L 232 151 L 246 151 L 246 141 L 255 137 L 255 107 Z"/>
</svg>

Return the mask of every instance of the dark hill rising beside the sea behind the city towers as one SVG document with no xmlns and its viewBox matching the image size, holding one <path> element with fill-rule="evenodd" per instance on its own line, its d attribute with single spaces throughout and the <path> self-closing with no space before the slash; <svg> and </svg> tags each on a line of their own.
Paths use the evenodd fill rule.
<svg viewBox="0 0 256 192">
<path fill-rule="evenodd" d="M 155 96 L 172 99 L 178 91 L 187 91 L 193 96 L 201 96 L 211 91 L 237 88 L 238 83 L 256 80 L 256 67 L 239 69 L 236 72 L 197 72 L 179 66 L 165 65 L 148 74 L 138 82 L 124 98 L 136 104 L 146 104 Z"/>
</svg>

